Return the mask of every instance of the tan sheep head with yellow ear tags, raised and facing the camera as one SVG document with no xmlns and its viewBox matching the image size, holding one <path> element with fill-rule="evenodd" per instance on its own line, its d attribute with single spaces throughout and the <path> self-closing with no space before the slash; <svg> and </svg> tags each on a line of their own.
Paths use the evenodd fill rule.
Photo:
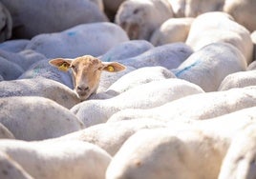
<svg viewBox="0 0 256 179">
<path fill-rule="evenodd" d="M 75 59 L 56 58 L 49 63 L 58 70 L 72 70 L 75 92 L 81 100 L 87 99 L 92 93 L 96 92 L 102 70 L 117 72 L 125 69 L 117 62 L 101 62 L 91 55 Z"/>
</svg>

